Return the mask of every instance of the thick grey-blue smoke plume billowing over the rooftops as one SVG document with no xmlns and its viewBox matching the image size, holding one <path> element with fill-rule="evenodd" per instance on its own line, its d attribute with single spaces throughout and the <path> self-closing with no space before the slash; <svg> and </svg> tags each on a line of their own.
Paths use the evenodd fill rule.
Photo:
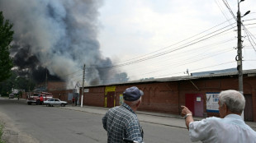
<svg viewBox="0 0 256 143">
<path fill-rule="evenodd" d="M 0 11 L 15 31 L 12 56 L 18 71 L 43 81 L 78 81 L 86 64 L 88 85 L 106 84 L 115 76 L 111 59 L 100 53 L 97 9 L 100 0 L 0 0 Z"/>
</svg>

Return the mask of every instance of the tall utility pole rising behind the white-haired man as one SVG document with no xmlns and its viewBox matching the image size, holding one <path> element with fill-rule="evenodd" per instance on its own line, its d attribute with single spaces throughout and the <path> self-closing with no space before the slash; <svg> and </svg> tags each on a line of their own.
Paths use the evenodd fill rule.
<svg viewBox="0 0 256 143">
<path fill-rule="evenodd" d="M 243 91 L 243 60 L 242 60 L 242 36 L 241 36 L 241 15 L 239 10 L 239 2 L 238 2 L 238 12 L 237 12 L 237 70 L 239 73 L 239 92 L 244 94 Z"/>
</svg>

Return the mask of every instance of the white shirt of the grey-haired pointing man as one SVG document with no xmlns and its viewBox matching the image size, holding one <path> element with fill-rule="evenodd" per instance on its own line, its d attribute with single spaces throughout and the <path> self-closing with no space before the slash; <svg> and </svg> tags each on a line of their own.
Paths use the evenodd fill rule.
<svg viewBox="0 0 256 143">
<path fill-rule="evenodd" d="M 204 143 L 256 143 L 256 131 L 237 114 L 190 122 L 189 136 L 191 141 Z"/>
</svg>

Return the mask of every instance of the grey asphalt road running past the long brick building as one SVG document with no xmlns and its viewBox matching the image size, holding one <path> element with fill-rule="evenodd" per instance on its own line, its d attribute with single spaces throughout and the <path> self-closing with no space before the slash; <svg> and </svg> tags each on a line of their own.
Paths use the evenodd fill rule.
<svg viewBox="0 0 256 143">
<path fill-rule="evenodd" d="M 102 115 L 43 105 L 27 105 L 17 99 L 0 99 L 0 120 L 19 142 L 107 142 Z M 140 122 L 146 143 L 191 142 L 184 128 Z M 12 140 L 10 140 L 12 142 Z"/>
</svg>

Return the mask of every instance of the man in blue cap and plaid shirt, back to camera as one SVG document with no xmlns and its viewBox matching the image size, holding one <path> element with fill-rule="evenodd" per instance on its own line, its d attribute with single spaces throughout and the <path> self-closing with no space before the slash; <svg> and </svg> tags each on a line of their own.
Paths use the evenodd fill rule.
<svg viewBox="0 0 256 143">
<path fill-rule="evenodd" d="M 143 91 L 135 86 L 127 88 L 123 93 L 124 104 L 110 108 L 102 118 L 108 143 L 121 143 L 123 138 L 143 142 L 143 130 L 135 114 L 142 95 Z"/>
</svg>

